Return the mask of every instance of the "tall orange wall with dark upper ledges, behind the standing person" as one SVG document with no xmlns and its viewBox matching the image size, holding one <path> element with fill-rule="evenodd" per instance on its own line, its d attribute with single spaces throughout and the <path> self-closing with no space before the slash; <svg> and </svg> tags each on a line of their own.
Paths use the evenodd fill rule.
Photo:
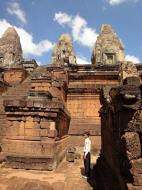
<svg viewBox="0 0 142 190">
<path fill-rule="evenodd" d="M 90 131 L 95 143 L 92 149 L 101 146 L 100 100 L 99 93 L 103 86 L 118 85 L 116 67 L 78 65 L 69 68 L 67 107 L 71 114 L 69 135 L 75 145 L 83 145 L 81 136 Z M 82 144 L 81 144 L 82 143 Z"/>
</svg>

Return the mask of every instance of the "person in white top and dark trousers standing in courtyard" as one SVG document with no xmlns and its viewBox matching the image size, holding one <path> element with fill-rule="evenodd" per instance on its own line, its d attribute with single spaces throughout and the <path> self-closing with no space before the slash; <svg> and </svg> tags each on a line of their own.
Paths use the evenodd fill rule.
<svg viewBox="0 0 142 190">
<path fill-rule="evenodd" d="M 84 134 L 85 142 L 84 142 L 84 154 L 83 154 L 83 161 L 84 161 L 84 178 L 90 177 L 91 167 L 91 140 L 90 140 L 90 133 L 85 132 Z"/>
</svg>

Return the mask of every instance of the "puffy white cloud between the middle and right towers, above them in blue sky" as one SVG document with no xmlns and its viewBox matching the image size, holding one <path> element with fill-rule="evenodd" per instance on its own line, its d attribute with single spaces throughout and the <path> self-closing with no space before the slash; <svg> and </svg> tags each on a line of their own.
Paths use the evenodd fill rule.
<svg viewBox="0 0 142 190">
<path fill-rule="evenodd" d="M 54 21 L 62 26 L 70 27 L 74 41 L 89 48 L 94 46 L 98 34 L 95 29 L 88 27 L 84 18 L 79 15 L 70 16 L 66 13 L 58 12 L 55 13 Z"/>
</svg>

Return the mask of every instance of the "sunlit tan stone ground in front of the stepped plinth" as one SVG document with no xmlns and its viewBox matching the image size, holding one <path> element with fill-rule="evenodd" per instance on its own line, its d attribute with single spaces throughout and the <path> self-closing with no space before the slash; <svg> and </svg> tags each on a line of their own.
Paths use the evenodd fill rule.
<svg viewBox="0 0 142 190">
<path fill-rule="evenodd" d="M 92 155 L 92 168 L 97 155 Z M 94 177 L 82 178 L 82 159 L 63 162 L 55 171 L 10 169 L 0 166 L 0 190 L 93 190 Z"/>
</svg>

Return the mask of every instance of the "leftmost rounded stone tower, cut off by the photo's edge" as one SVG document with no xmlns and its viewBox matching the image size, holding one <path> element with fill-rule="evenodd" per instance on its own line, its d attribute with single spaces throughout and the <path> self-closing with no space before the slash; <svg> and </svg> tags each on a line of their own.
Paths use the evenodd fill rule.
<svg viewBox="0 0 142 190">
<path fill-rule="evenodd" d="M 0 64 L 5 67 L 18 65 L 22 60 L 20 38 L 13 27 L 9 27 L 0 38 Z"/>
</svg>

